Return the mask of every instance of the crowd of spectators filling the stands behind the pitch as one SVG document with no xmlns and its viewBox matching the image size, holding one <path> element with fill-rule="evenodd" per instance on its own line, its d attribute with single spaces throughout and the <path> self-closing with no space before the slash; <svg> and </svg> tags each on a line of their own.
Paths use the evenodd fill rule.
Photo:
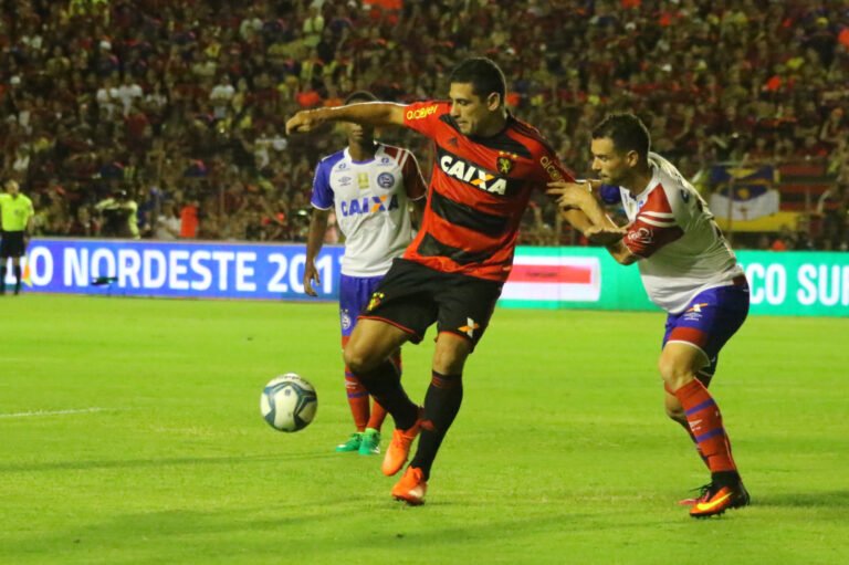
<svg viewBox="0 0 849 565">
<path fill-rule="evenodd" d="M 846 249 L 849 238 L 841 0 L 0 8 L 0 174 L 32 196 L 39 234 L 101 234 L 104 210 L 117 201 L 128 202 L 144 238 L 303 241 L 315 163 L 344 138 L 286 138 L 286 117 L 360 88 L 399 102 L 444 97 L 451 66 L 484 54 L 504 69 L 513 112 L 578 175 L 589 172 L 591 126 L 633 111 L 650 124 L 654 148 L 691 178 L 724 160 L 820 164 L 834 182 L 810 206 L 814 244 Z M 429 167 L 421 138 L 391 135 L 385 140 Z M 541 197 L 523 241 L 564 241 L 555 216 Z M 763 245 L 811 244 L 801 239 L 785 233 Z"/>
</svg>

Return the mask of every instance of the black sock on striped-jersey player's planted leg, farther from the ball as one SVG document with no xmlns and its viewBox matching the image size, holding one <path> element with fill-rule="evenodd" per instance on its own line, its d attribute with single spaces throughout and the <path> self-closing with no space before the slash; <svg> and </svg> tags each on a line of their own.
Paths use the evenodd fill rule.
<svg viewBox="0 0 849 565">
<path fill-rule="evenodd" d="M 410 463 L 410 467 L 421 469 L 424 479 L 430 477 L 430 468 L 437 458 L 439 446 L 442 444 L 462 402 L 462 375 L 442 375 L 434 370 L 428 394 L 424 395 L 424 420 L 421 423 L 419 446 Z"/>
</svg>

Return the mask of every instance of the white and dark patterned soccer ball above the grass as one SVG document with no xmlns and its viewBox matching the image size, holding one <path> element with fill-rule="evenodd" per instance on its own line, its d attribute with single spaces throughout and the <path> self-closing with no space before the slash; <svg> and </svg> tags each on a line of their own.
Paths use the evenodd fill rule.
<svg viewBox="0 0 849 565">
<path fill-rule="evenodd" d="M 315 418 L 317 408 L 315 388 L 294 373 L 271 379 L 260 396 L 262 417 L 280 431 L 303 430 Z"/>
</svg>

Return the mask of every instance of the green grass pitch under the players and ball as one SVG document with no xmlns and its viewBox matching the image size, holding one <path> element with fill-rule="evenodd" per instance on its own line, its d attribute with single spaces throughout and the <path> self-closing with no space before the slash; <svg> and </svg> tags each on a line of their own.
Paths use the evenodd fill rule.
<svg viewBox="0 0 849 565">
<path fill-rule="evenodd" d="M 847 320 L 732 339 L 712 389 L 754 504 L 695 521 L 659 313 L 496 311 L 421 508 L 333 452 L 333 304 L 23 295 L 0 318 L 2 564 L 849 563 Z M 432 335 L 405 349 L 417 399 Z M 285 372 L 319 396 L 293 435 L 259 412 Z"/>
</svg>

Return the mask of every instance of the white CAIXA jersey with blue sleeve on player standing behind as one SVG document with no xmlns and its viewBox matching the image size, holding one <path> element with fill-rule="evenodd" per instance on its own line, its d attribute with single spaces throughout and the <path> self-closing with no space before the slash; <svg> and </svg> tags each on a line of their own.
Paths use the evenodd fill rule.
<svg viewBox="0 0 849 565">
<path fill-rule="evenodd" d="M 378 144 L 367 161 L 355 161 L 346 148 L 318 163 L 311 202 L 336 211 L 345 234 L 343 274 L 378 276 L 389 270 L 412 241 L 408 203 L 424 191 L 416 158 L 399 147 Z"/>
</svg>

